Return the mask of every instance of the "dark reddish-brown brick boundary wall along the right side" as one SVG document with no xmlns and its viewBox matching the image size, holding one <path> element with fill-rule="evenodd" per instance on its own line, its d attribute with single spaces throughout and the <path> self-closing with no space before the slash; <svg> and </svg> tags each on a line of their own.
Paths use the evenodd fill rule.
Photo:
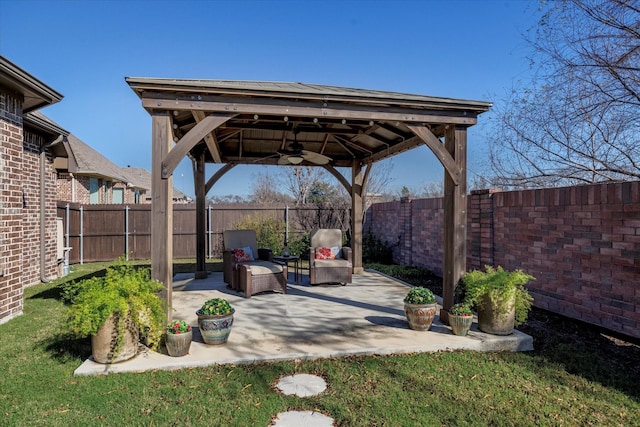
<svg viewBox="0 0 640 427">
<path fill-rule="evenodd" d="M 536 277 L 529 289 L 537 307 L 640 337 L 640 182 L 483 190 L 467 199 L 468 270 L 521 268 Z M 394 261 L 441 274 L 442 200 L 429 200 L 411 201 L 410 236 L 389 233 L 403 228 L 402 202 L 373 205 L 365 230 L 411 241 Z"/>
</svg>

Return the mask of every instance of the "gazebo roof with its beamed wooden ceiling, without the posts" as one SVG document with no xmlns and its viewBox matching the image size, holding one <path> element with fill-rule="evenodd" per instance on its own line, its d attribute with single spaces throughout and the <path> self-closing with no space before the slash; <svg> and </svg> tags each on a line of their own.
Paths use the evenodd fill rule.
<svg viewBox="0 0 640 427">
<path fill-rule="evenodd" d="M 168 112 L 176 142 L 206 116 L 224 118 L 190 151 L 204 152 L 209 163 L 278 164 L 278 152 L 289 148 L 295 132 L 304 150 L 331 158 L 334 167 L 351 167 L 354 160 L 368 164 L 423 145 L 416 127 L 442 138 L 447 126 L 472 126 L 491 107 L 304 83 L 134 77 L 126 82 L 150 114 Z"/>
</svg>

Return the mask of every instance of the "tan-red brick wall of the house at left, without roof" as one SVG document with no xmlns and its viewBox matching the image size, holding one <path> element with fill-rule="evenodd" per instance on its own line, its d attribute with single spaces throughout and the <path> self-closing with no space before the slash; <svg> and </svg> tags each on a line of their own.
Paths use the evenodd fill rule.
<svg viewBox="0 0 640 427">
<path fill-rule="evenodd" d="M 57 277 L 55 172 L 45 159 L 45 209 L 40 203 L 40 147 L 25 130 L 22 96 L 0 87 L 0 323 L 22 313 L 23 289 L 39 283 L 40 221 L 45 221 L 45 269 Z"/>
</svg>

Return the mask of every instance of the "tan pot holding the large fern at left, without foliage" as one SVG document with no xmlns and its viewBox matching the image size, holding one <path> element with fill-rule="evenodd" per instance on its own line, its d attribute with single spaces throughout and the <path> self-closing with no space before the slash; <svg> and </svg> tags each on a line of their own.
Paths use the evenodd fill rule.
<svg viewBox="0 0 640 427">
<path fill-rule="evenodd" d="M 98 363 L 118 363 L 129 360 L 138 353 L 140 333 L 130 317 L 125 321 L 122 345 L 117 349 L 116 318 L 111 316 L 98 332 L 91 337 L 91 353 Z"/>
</svg>

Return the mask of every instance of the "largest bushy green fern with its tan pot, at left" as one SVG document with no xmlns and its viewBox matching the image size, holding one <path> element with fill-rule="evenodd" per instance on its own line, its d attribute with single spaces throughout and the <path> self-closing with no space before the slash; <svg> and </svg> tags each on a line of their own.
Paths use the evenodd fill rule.
<svg viewBox="0 0 640 427">
<path fill-rule="evenodd" d="M 151 279 L 148 268 L 134 268 L 123 257 L 92 277 L 65 289 L 71 302 L 66 322 L 80 337 L 91 336 L 93 359 L 116 363 L 134 357 L 140 335 L 156 345 L 162 337 L 166 304 L 158 292 L 163 285 Z"/>
</svg>

